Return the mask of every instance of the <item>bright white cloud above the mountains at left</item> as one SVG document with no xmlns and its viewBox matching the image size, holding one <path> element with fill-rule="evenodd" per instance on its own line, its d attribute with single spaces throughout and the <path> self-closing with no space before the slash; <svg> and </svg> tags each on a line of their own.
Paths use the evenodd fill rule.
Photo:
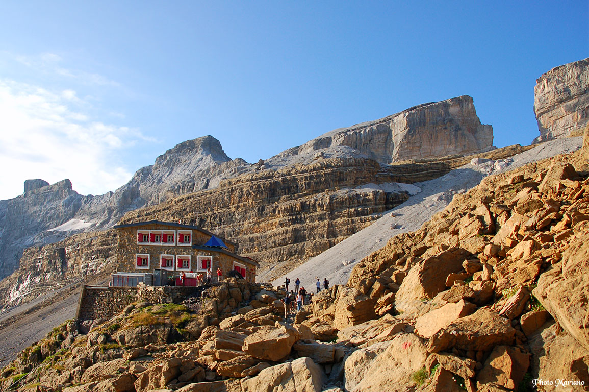
<svg viewBox="0 0 589 392">
<path fill-rule="evenodd" d="M 0 199 L 21 194 L 26 179 L 69 178 L 77 192 L 97 195 L 131 178 L 118 157 L 137 140 L 151 139 L 136 129 L 92 121 L 84 107 L 71 89 L 54 93 L 0 80 Z"/>
</svg>

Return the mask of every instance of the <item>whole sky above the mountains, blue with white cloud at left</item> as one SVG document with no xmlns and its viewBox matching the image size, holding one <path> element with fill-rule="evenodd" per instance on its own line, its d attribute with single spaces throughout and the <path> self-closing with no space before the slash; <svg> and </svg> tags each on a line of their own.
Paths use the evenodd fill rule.
<svg viewBox="0 0 589 392">
<path fill-rule="evenodd" d="M 266 159 L 468 94 L 495 146 L 538 136 L 535 79 L 589 56 L 589 3 L 5 1 L 0 199 L 115 190 L 181 141 Z"/>
</svg>

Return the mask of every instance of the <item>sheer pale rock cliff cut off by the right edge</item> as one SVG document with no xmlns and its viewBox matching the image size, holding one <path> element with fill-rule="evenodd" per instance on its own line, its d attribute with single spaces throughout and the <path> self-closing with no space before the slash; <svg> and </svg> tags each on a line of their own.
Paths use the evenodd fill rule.
<svg viewBox="0 0 589 392">
<path fill-rule="evenodd" d="M 536 80 L 534 143 L 569 136 L 589 121 L 589 58 L 552 68 Z"/>
</svg>

